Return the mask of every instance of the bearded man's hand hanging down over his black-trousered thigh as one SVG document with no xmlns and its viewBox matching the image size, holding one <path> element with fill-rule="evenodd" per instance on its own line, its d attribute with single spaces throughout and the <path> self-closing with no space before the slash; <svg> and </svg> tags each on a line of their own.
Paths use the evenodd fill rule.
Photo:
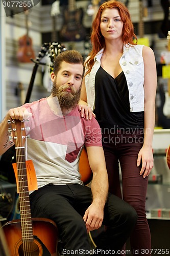
<svg viewBox="0 0 170 256">
<path fill-rule="evenodd" d="M 86 224 L 87 233 L 102 226 L 104 210 L 92 203 L 85 211 L 83 220 Z"/>
</svg>

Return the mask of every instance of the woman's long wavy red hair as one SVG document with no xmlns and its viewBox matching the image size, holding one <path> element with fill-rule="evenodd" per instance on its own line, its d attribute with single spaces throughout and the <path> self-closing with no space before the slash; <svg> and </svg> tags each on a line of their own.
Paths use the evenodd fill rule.
<svg viewBox="0 0 170 256">
<path fill-rule="evenodd" d="M 124 42 L 124 45 L 130 44 L 130 45 L 136 45 L 137 44 L 137 37 L 134 33 L 134 27 L 131 21 L 131 16 L 129 13 L 128 8 L 121 2 L 118 2 L 116 0 L 110 0 L 108 2 L 103 3 L 98 10 L 98 13 L 96 14 L 93 23 L 92 23 L 92 32 L 91 32 L 91 45 L 92 50 L 89 53 L 89 58 L 85 62 L 85 64 L 88 67 L 88 71 L 86 74 L 88 74 L 91 71 L 91 68 L 94 64 L 94 57 L 95 55 L 102 49 L 105 48 L 105 38 L 103 37 L 100 29 L 100 23 L 101 23 L 101 15 L 102 12 L 106 8 L 117 8 L 119 15 L 122 19 L 122 22 L 124 24 L 123 26 L 123 33 L 122 33 L 122 40 Z M 133 39 L 136 39 L 136 43 L 133 41 Z"/>
</svg>

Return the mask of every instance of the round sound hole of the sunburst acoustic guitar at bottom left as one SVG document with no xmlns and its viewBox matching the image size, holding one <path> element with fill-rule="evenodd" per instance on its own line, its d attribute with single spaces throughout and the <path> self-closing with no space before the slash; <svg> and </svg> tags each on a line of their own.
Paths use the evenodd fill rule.
<svg viewBox="0 0 170 256">
<path fill-rule="evenodd" d="M 42 255 L 41 251 L 41 245 L 36 240 L 22 243 L 18 248 L 19 256 L 40 256 Z"/>
</svg>

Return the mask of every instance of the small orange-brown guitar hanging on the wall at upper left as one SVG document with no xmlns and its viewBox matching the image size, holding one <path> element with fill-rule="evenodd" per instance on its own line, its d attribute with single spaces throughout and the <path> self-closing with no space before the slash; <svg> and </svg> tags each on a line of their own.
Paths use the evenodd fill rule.
<svg viewBox="0 0 170 256">
<path fill-rule="evenodd" d="M 19 38 L 19 49 L 17 59 L 20 62 L 31 62 L 31 58 L 35 58 L 32 48 L 32 38 L 29 36 L 28 10 L 25 11 L 27 33 Z"/>
</svg>

